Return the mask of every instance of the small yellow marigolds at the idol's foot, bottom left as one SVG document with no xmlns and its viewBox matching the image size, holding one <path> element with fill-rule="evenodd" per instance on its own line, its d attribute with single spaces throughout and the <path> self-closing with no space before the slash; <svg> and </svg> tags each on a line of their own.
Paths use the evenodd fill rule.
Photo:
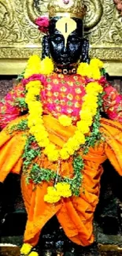
<svg viewBox="0 0 122 256">
<path fill-rule="evenodd" d="M 29 243 L 24 243 L 20 248 L 20 256 L 39 256 L 36 251 L 32 250 L 33 247 Z"/>
</svg>

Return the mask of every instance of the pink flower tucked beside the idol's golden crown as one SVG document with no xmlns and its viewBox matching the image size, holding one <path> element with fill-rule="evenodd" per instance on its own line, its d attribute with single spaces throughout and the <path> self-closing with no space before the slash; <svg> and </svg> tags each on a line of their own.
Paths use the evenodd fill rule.
<svg viewBox="0 0 122 256">
<path fill-rule="evenodd" d="M 39 26 L 39 30 L 43 33 L 48 32 L 49 28 L 49 18 L 48 17 L 39 17 L 35 20 L 35 24 Z"/>
</svg>

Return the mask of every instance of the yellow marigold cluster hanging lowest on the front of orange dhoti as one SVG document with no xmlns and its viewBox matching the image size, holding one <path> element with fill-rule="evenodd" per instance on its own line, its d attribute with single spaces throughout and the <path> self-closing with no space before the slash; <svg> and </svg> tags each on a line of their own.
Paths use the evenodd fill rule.
<svg viewBox="0 0 122 256">
<path fill-rule="evenodd" d="M 66 182 L 58 182 L 54 187 L 47 188 L 47 194 L 44 196 L 45 202 L 58 202 L 61 197 L 68 198 L 72 195 L 70 185 Z"/>
</svg>

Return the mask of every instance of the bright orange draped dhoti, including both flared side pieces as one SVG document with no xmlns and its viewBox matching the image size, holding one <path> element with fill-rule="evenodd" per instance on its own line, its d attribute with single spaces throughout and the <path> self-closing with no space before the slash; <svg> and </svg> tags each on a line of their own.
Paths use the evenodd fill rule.
<svg viewBox="0 0 122 256">
<path fill-rule="evenodd" d="M 26 117 L 19 117 L 12 121 L 9 127 L 4 128 L 0 133 L 0 181 L 3 182 L 8 173 L 20 173 L 22 167 L 22 154 L 28 137 L 26 132 L 13 132 L 8 130 L 13 124 L 17 124 Z M 62 147 L 63 144 L 76 131 L 75 126 L 65 128 L 50 116 L 44 116 L 43 121 L 46 130 L 49 132 L 50 141 Z M 94 210 L 98 204 L 100 192 L 100 179 L 102 176 L 102 162 L 109 158 L 114 168 L 122 175 L 122 125 L 115 121 L 101 120 L 101 132 L 105 141 L 89 153 L 83 155 L 84 169 L 82 170 L 83 180 L 80 187 L 79 197 L 62 198 L 61 201 L 50 204 L 44 202 L 49 184 L 36 185 L 32 182 L 26 183 L 26 176 L 21 175 L 21 189 L 24 204 L 28 213 L 28 221 L 24 232 L 24 242 L 35 246 L 38 243 L 41 229 L 56 214 L 58 221 L 65 231 L 66 236 L 82 246 L 94 242 L 93 218 Z M 82 154 L 82 152 L 79 152 Z M 51 163 L 46 157 L 42 157 L 40 167 L 57 170 L 57 164 Z M 61 175 L 72 176 L 72 158 L 68 161 L 61 161 Z"/>
</svg>

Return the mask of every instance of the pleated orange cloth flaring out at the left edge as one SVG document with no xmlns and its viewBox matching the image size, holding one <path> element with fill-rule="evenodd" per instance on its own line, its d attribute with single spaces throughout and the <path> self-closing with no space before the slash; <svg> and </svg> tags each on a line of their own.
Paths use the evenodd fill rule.
<svg viewBox="0 0 122 256">
<path fill-rule="evenodd" d="M 0 132 L 0 182 L 11 172 L 20 173 L 27 132 L 11 132 L 11 128 L 25 118 L 18 117 Z"/>
</svg>

